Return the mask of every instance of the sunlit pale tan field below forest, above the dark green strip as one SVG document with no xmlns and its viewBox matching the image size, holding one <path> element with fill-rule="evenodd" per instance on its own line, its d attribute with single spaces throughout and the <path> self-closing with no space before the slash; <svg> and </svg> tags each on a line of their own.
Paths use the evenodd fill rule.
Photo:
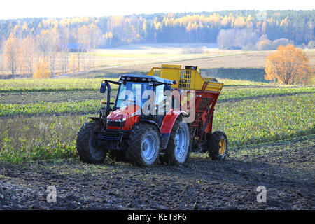
<svg viewBox="0 0 315 224">
<path fill-rule="evenodd" d="M 198 53 L 194 53 L 194 50 Z M 125 45 L 118 48 L 99 49 L 96 55 L 99 56 L 99 60 L 102 60 L 102 57 L 106 57 L 108 62 L 105 63 L 109 66 L 128 66 L 131 64 L 142 64 L 144 62 L 157 63 L 167 61 L 174 61 L 175 64 L 178 64 L 176 60 L 181 60 L 185 62 L 185 64 L 192 64 L 204 69 L 209 69 L 262 68 L 265 67 L 266 56 L 272 52 L 274 52 L 274 50 L 219 50 L 218 46 L 214 43 L 170 43 Z M 306 52 L 309 57 L 309 62 L 315 64 L 315 50 L 307 49 L 304 50 L 304 52 Z"/>
</svg>

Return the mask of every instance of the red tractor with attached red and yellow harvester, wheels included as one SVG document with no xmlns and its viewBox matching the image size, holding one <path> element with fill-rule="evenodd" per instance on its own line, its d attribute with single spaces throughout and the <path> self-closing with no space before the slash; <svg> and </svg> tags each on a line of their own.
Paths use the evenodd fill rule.
<svg viewBox="0 0 315 224">
<path fill-rule="evenodd" d="M 111 84 L 118 85 L 111 102 Z M 99 117 L 90 118 L 78 132 L 78 155 L 83 162 L 100 163 L 109 153 L 118 161 L 151 166 L 159 161 L 184 164 L 191 151 L 223 160 L 228 152 L 224 132 L 212 132 L 214 106 L 223 83 L 202 78 L 194 66 L 162 65 L 145 75 L 103 80 L 107 89 Z"/>
</svg>

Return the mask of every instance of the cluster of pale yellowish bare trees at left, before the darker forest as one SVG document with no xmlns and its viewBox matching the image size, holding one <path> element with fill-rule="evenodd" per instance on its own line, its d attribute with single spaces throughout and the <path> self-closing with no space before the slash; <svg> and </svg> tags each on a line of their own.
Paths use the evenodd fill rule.
<svg viewBox="0 0 315 224">
<path fill-rule="evenodd" d="M 27 32 L 27 24 L 15 26 L 7 39 L 0 43 L 0 74 L 10 73 L 36 78 L 55 77 L 57 61 L 60 73 L 94 69 L 94 50 L 102 38 L 97 25 L 90 23 L 78 29 L 59 27 L 56 23 L 39 34 Z M 72 43 L 72 46 L 71 46 Z M 74 44 L 74 47 L 73 47 Z M 69 52 L 76 52 L 69 59 Z M 87 58 L 86 58 L 87 57 Z"/>
</svg>

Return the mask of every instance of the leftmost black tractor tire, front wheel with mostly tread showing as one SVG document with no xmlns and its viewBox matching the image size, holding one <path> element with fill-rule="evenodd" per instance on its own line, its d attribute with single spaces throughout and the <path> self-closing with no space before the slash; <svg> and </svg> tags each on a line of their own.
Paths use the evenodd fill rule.
<svg viewBox="0 0 315 224">
<path fill-rule="evenodd" d="M 98 164 L 106 158 L 106 149 L 96 146 L 97 134 L 100 130 L 101 124 L 98 121 L 85 123 L 80 128 L 76 138 L 76 149 L 83 162 Z"/>
</svg>

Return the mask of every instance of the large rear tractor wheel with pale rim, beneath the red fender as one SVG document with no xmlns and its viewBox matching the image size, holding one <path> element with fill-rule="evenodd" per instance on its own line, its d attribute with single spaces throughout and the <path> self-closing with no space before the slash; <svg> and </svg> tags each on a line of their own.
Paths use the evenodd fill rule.
<svg viewBox="0 0 315 224">
<path fill-rule="evenodd" d="M 183 135 L 182 140 L 181 135 Z M 177 136 L 177 138 L 176 138 Z M 190 156 L 190 132 L 187 123 L 183 123 L 181 117 L 179 117 L 174 125 L 169 136 L 169 142 L 165 149 L 165 155 L 161 156 L 162 162 L 166 162 L 168 165 L 183 165 L 186 163 Z"/>
</svg>

